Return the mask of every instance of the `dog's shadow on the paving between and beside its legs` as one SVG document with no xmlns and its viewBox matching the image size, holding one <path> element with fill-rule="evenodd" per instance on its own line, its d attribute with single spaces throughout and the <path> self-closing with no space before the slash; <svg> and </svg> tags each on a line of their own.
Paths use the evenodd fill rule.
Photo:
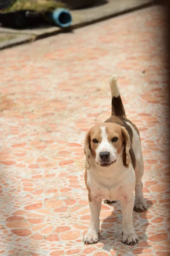
<svg viewBox="0 0 170 256">
<path fill-rule="evenodd" d="M 150 200 L 147 200 L 147 209 L 149 209 L 153 203 Z M 110 216 L 105 219 L 102 219 L 102 224 L 100 227 L 101 236 L 99 237 L 99 242 L 102 242 L 103 249 L 110 252 L 113 250 L 116 254 L 119 254 L 119 250 L 134 250 L 137 245 L 130 246 L 122 243 L 122 210 L 120 203 L 116 201 L 116 204 L 110 204 L 113 206 L 113 212 Z M 107 206 L 107 204 L 106 204 Z M 117 214 L 116 214 L 117 213 Z M 147 211 L 145 212 L 134 212 L 133 211 L 133 227 L 136 234 L 139 237 L 139 243 L 144 245 L 143 247 L 150 247 L 147 243 L 146 230 L 149 222 L 147 220 Z M 117 251 L 118 250 L 118 251 Z M 141 250 L 139 252 L 139 250 Z M 141 254 L 144 248 L 138 247 L 138 253 Z"/>
</svg>

